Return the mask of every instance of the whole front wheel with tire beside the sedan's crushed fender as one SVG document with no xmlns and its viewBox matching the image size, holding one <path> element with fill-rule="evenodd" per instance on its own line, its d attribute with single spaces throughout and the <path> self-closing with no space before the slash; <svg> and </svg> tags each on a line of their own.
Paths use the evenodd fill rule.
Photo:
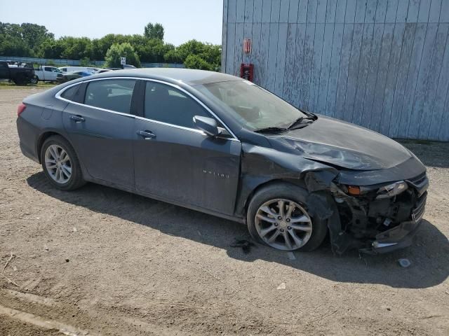
<svg viewBox="0 0 449 336">
<path fill-rule="evenodd" d="M 326 222 L 307 211 L 307 191 L 290 183 L 262 188 L 248 206 L 250 235 L 283 251 L 312 251 L 326 237 Z"/>
</svg>

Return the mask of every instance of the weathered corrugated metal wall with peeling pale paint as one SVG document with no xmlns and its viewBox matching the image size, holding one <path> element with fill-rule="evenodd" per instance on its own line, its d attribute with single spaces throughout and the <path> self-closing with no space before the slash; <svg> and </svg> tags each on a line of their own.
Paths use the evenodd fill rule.
<svg viewBox="0 0 449 336">
<path fill-rule="evenodd" d="M 449 141 L 448 31 L 449 0 L 224 0 L 222 70 L 253 63 L 301 109 Z"/>
</svg>

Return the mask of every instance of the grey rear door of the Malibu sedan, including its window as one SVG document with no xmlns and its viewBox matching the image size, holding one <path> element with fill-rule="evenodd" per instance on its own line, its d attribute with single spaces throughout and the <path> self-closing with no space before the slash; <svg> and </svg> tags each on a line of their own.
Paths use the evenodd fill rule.
<svg viewBox="0 0 449 336">
<path fill-rule="evenodd" d="M 130 113 L 134 79 L 92 80 L 62 113 L 65 130 L 88 174 L 134 187 L 133 127 Z"/>
</svg>

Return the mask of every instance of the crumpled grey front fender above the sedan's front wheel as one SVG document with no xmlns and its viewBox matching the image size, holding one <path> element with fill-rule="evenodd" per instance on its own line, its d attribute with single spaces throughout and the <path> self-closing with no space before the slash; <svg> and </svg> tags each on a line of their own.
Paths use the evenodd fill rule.
<svg viewBox="0 0 449 336">
<path fill-rule="evenodd" d="M 331 191 L 339 172 L 321 162 L 300 158 L 270 148 L 242 145 L 241 179 L 237 214 L 243 214 L 246 201 L 257 186 L 269 181 L 289 181 L 307 189 L 307 209 L 312 217 L 327 221 L 334 253 L 342 254 L 358 242 L 342 232 L 340 216 Z"/>
</svg>

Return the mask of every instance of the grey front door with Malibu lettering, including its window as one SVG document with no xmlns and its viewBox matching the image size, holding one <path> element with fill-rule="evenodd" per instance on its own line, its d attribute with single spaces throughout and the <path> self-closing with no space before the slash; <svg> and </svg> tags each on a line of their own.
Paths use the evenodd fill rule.
<svg viewBox="0 0 449 336">
<path fill-rule="evenodd" d="M 196 129 L 194 116 L 214 118 L 179 87 L 142 81 L 135 120 L 135 187 L 164 200 L 233 214 L 241 143 Z"/>
</svg>

